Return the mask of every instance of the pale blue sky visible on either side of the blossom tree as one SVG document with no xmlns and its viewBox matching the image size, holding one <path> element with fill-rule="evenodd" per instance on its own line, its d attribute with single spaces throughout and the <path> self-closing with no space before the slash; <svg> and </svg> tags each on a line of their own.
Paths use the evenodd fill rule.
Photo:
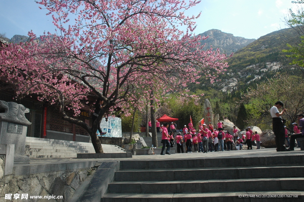
<svg viewBox="0 0 304 202">
<path fill-rule="evenodd" d="M 296 8 L 292 0 L 202 0 L 187 15 L 202 14 L 196 20 L 195 34 L 220 29 L 234 36 L 257 39 L 280 28 L 289 8 Z M 8 38 L 28 31 L 39 36 L 44 31 L 54 33 L 52 18 L 47 10 L 39 9 L 33 0 L 0 0 L 0 33 Z"/>
</svg>

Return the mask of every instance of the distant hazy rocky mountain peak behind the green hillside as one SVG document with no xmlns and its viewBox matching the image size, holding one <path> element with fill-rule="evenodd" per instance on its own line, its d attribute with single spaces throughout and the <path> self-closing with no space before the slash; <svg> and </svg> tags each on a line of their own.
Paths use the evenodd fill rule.
<svg viewBox="0 0 304 202">
<path fill-rule="evenodd" d="M 206 49 L 212 45 L 214 49 L 219 48 L 221 52 L 225 52 L 227 55 L 230 55 L 232 52 L 236 52 L 241 48 L 244 48 L 256 40 L 245 39 L 244 37 L 240 36 L 233 36 L 233 34 L 225 33 L 218 29 L 210 29 L 199 35 L 209 36 L 208 39 L 201 40 L 201 44 L 206 43 Z"/>
</svg>

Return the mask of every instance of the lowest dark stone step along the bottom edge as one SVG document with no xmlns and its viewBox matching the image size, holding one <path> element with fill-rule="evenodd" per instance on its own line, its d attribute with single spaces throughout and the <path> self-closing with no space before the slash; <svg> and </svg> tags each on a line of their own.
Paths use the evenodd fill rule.
<svg viewBox="0 0 304 202">
<path fill-rule="evenodd" d="M 242 196 L 242 197 L 239 197 Z M 107 193 L 101 202 L 302 202 L 303 191 L 252 191 L 209 193 Z M 246 197 L 251 196 L 251 197 Z M 277 197 L 275 197 L 277 196 Z M 279 197 L 278 197 L 279 196 Z M 294 196 L 292 198 L 287 196 Z"/>
</svg>

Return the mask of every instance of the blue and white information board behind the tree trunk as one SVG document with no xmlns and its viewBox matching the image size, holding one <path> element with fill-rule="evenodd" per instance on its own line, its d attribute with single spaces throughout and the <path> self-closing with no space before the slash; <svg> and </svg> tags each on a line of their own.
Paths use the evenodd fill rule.
<svg viewBox="0 0 304 202">
<path fill-rule="evenodd" d="M 105 121 L 105 118 L 102 118 L 100 122 L 100 128 L 102 132 L 107 132 L 107 134 L 102 135 L 102 137 L 112 137 L 112 138 L 121 138 L 121 118 L 109 116 L 108 121 Z M 99 131 L 96 132 L 99 135 Z"/>
</svg>

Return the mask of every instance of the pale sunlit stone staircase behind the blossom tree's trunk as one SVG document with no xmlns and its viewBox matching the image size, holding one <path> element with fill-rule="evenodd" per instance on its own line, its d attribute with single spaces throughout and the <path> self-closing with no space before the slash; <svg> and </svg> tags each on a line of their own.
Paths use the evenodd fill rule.
<svg viewBox="0 0 304 202">
<path fill-rule="evenodd" d="M 105 153 L 122 153 L 116 145 L 102 144 Z M 26 137 L 25 155 L 29 158 L 76 158 L 77 153 L 95 153 L 92 143 Z"/>
</svg>

